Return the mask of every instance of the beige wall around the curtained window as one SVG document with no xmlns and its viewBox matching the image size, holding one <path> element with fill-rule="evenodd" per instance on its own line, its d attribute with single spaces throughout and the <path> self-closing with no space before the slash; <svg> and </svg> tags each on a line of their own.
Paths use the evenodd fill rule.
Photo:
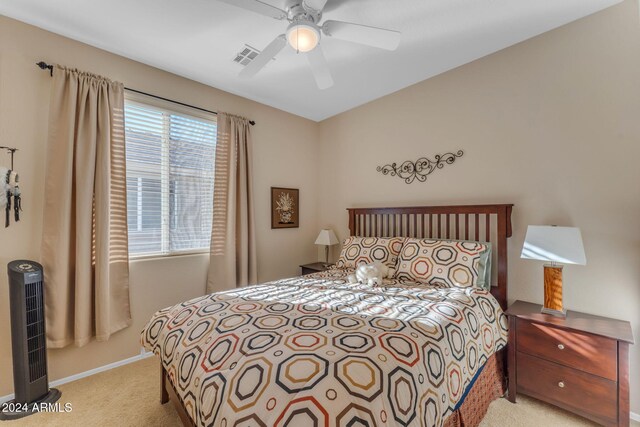
<svg viewBox="0 0 640 427">
<path fill-rule="evenodd" d="M 255 197 L 258 272 L 261 281 L 293 276 L 298 265 L 317 258 L 318 124 L 127 60 L 0 16 L 0 145 L 16 146 L 22 177 L 22 221 L 0 228 L 0 396 L 11 393 L 11 345 L 7 262 L 40 253 L 44 148 L 50 77 L 44 60 L 93 71 L 126 86 L 203 108 L 245 115 L 257 121 Z M 0 164 L 6 164 L 0 153 Z M 271 230 L 271 186 L 300 188 L 299 229 Z M 4 218 L 4 217 L 3 217 Z M 50 352 L 50 378 L 57 379 L 140 353 L 139 333 L 159 308 L 204 294 L 208 258 L 203 255 L 131 263 L 133 325 L 106 343 Z"/>
</svg>

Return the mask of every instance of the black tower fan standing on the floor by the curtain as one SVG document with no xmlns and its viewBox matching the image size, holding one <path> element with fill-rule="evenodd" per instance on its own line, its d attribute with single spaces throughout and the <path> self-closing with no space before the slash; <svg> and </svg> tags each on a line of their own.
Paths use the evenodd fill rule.
<svg viewBox="0 0 640 427">
<path fill-rule="evenodd" d="M 15 399 L 3 405 L 0 420 L 30 415 L 34 406 L 54 403 L 61 395 L 49 389 L 47 379 L 42 266 L 18 260 L 10 262 L 8 270 Z"/>
</svg>

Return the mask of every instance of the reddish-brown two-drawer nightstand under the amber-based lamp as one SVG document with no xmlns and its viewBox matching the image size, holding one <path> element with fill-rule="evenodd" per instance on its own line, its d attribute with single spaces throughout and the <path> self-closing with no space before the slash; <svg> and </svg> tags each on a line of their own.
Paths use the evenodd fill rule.
<svg viewBox="0 0 640 427">
<path fill-rule="evenodd" d="M 631 324 L 513 303 L 509 316 L 509 400 L 522 393 L 603 425 L 629 425 Z"/>
</svg>

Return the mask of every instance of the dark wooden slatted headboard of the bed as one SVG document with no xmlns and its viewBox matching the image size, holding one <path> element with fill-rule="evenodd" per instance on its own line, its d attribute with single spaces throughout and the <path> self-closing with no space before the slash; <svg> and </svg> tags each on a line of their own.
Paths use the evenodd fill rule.
<svg viewBox="0 0 640 427">
<path fill-rule="evenodd" d="M 363 237 L 418 237 L 490 242 L 497 283 L 491 293 L 507 309 L 507 238 L 513 205 L 350 208 L 349 231 Z"/>
</svg>

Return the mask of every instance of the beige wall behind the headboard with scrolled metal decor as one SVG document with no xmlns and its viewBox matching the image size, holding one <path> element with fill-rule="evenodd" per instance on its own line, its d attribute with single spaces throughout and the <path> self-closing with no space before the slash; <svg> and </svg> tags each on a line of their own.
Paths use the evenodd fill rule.
<svg viewBox="0 0 640 427">
<path fill-rule="evenodd" d="M 542 302 L 542 263 L 519 259 L 528 224 L 582 230 L 565 268 L 570 309 L 632 322 L 640 341 L 640 25 L 637 2 L 587 17 L 320 124 L 320 226 L 345 208 L 514 203 L 509 299 Z M 464 149 L 425 183 L 376 166 Z M 640 413 L 640 342 L 632 411 Z"/>
</svg>

